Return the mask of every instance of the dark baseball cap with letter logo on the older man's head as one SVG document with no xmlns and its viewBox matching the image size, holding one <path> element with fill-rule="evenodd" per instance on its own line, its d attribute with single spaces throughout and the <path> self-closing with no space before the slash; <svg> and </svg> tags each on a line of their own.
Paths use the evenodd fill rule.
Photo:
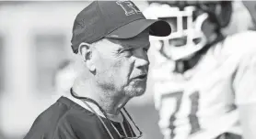
<svg viewBox="0 0 256 139">
<path fill-rule="evenodd" d="M 77 16 L 71 40 L 73 52 L 81 42 L 91 44 L 99 39 L 135 37 L 149 27 L 149 35 L 169 36 L 171 28 L 163 20 L 145 19 L 131 1 L 93 1 Z"/>
</svg>

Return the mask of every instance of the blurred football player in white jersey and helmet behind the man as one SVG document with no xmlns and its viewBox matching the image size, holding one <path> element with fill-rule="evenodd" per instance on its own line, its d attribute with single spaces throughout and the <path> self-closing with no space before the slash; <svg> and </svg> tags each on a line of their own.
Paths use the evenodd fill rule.
<svg viewBox="0 0 256 139">
<path fill-rule="evenodd" d="M 225 36 L 230 1 L 149 1 L 169 22 L 151 37 L 155 102 L 165 139 L 256 138 L 256 32 Z"/>
</svg>

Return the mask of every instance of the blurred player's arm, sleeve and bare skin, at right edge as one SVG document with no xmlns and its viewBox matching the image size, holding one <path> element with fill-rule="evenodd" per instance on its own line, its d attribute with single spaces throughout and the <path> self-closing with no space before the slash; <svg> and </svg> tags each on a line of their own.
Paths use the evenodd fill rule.
<svg viewBox="0 0 256 139">
<path fill-rule="evenodd" d="M 239 61 L 233 85 L 243 138 L 256 139 L 256 51 Z"/>
</svg>

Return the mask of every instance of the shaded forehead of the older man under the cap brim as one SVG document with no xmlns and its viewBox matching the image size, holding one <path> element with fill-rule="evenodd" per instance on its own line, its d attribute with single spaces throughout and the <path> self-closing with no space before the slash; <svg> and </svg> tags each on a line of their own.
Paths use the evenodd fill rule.
<svg viewBox="0 0 256 139">
<path fill-rule="evenodd" d="M 119 44 L 124 48 L 132 47 L 132 48 L 143 48 L 149 47 L 149 29 L 145 29 L 142 33 L 137 35 L 136 37 L 126 38 L 126 39 L 113 39 L 108 38 L 112 43 Z"/>
</svg>

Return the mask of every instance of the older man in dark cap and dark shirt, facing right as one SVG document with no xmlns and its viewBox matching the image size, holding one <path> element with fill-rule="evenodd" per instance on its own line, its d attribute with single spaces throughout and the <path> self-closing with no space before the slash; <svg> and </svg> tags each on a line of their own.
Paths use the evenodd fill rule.
<svg viewBox="0 0 256 139">
<path fill-rule="evenodd" d="M 71 95 L 42 112 L 25 139 L 142 136 L 124 105 L 145 92 L 149 35 L 169 33 L 167 22 L 145 19 L 131 1 L 92 2 L 73 27 L 72 49 L 83 61 L 83 72 Z"/>
</svg>

